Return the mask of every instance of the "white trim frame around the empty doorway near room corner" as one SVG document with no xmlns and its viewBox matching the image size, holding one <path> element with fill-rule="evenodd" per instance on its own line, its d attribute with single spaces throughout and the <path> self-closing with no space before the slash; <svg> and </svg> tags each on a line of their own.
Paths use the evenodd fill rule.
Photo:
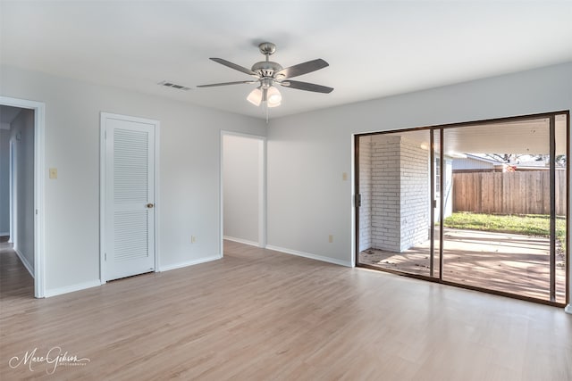
<svg viewBox="0 0 572 381">
<path fill-rule="evenodd" d="M 262 149 L 261 160 L 258 162 L 258 247 L 266 247 L 266 137 L 221 130 L 220 166 L 219 166 L 219 256 L 223 258 L 224 252 L 224 137 L 247 137 L 257 140 Z"/>
</svg>

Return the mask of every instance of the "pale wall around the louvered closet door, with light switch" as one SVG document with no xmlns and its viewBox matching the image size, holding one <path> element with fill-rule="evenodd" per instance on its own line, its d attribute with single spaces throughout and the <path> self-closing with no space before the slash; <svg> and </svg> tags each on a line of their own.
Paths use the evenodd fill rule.
<svg viewBox="0 0 572 381">
<path fill-rule="evenodd" d="M 0 76 L 1 95 L 46 104 L 46 294 L 99 281 L 100 112 L 161 121 L 160 268 L 221 255 L 220 131 L 265 136 L 263 120 L 9 66 Z"/>
</svg>

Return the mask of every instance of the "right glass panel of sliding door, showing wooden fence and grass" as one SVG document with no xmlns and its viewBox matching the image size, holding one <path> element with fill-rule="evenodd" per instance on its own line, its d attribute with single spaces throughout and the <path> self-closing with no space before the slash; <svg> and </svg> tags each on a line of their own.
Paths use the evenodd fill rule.
<svg viewBox="0 0 572 381">
<path fill-rule="evenodd" d="M 445 171 L 443 280 L 565 302 L 551 292 L 550 120 L 444 128 L 454 168 Z"/>
</svg>

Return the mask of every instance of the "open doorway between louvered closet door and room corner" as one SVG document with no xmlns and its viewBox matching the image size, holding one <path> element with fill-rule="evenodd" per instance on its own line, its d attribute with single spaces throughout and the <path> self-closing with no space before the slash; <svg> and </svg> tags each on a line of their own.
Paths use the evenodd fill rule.
<svg viewBox="0 0 572 381">
<path fill-rule="evenodd" d="M 221 138 L 221 253 L 224 241 L 265 247 L 265 137 Z"/>
</svg>

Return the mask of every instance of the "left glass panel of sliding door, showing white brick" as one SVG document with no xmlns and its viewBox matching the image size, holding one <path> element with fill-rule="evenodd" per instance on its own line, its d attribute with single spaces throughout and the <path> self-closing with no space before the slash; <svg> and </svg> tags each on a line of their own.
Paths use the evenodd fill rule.
<svg viewBox="0 0 572 381">
<path fill-rule="evenodd" d="M 431 277 L 430 130 L 357 139 L 358 263 Z"/>
</svg>

